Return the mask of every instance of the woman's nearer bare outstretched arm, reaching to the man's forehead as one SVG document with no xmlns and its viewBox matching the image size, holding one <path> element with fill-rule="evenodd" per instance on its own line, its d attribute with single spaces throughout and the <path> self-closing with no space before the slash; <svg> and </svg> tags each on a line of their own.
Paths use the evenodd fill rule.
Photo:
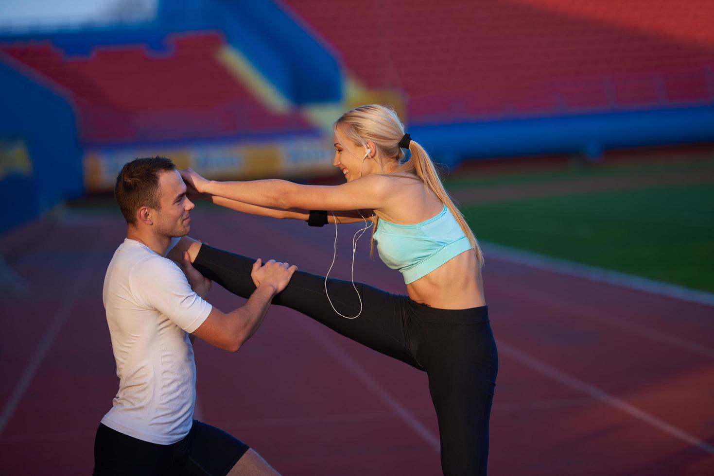
<svg viewBox="0 0 714 476">
<path fill-rule="evenodd" d="M 358 178 L 338 186 L 300 185 L 284 180 L 208 181 L 190 168 L 181 171 L 181 176 L 199 193 L 283 210 L 373 210 L 383 208 L 392 196 L 388 178 L 379 175 Z"/>
</svg>

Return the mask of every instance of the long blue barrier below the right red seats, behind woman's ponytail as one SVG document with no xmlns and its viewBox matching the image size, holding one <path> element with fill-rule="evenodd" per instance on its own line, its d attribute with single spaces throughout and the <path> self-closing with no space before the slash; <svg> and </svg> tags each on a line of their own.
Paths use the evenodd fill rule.
<svg viewBox="0 0 714 476">
<path fill-rule="evenodd" d="M 448 166 L 463 158 L 547 153 L 597 160 L 608 148 L 714 141 L 714 106 L 433 123 L 410 131 Z"/>
</svg>

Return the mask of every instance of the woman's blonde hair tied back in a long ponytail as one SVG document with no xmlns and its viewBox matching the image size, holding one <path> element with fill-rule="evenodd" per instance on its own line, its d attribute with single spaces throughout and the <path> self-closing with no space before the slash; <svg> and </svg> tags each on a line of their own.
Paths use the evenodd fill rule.
<svg viewBox="0 0 714 476">
<path fill-rule="evenodd" d="M 379 156 L 393 158 L 397 166 L 396 173 L 413 173 L 416 178 L 428 186 L 429 190 L 437 196 L 441 203 L 446 205 L 446 208 L 456 218 L 461 230 L 468 237 L 471 248 L 476 251 L 479 268 L 483 266 L 483 253 L 481 253 L 481 247 L 478 245 L 476 236 L 474 236 L 461 212 L 453 204 L 451 197 L 446 193 L 429 154 L 419 143 L 411 141 L 409 143 L 411 157 L 408 161 L 401 163 L 404 158 L 404 152 L 399 147 L 399 141 L 404 136 L 404 125 L 393 108 L 382 106 L 381 104 L 359 106 L 350 109 L 335 121 L 335 132 L 338 131 L 338 126 L 341 126 L 341 133 L 353 143 L 366 147 L 366 141 L 372 141 L 377 148 L 376 153 Z M 339 140 L 337 133 L 336 136 L 338 136 Z M 374 250 L 374 231 L 377 228 L 378 220 L 375 217 L 372 228 L 371 253 Z"/>
</svg>

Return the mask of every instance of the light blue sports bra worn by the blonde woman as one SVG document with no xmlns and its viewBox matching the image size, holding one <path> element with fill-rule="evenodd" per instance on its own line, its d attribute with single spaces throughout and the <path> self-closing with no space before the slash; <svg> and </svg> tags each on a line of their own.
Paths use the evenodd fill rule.
<svg viewBox="0 0 714 476">
<path fill-rule="evenodd" d="M 446 205 L 437 216 L 416 225 L 397 225 L 380 218 L 374 240 L 381 260 L 399 270 L 406 284 L 471 249 L 471 242 Z"/>
</svg>

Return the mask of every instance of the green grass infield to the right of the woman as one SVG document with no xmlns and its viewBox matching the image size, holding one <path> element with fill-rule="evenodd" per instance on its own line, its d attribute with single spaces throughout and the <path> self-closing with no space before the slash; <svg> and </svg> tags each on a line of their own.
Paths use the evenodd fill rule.
<svg viewBox="0 0 714 476">
<path fill-rule="evenodd" d="M 714 184 L 461 209 L 481 240 L 714 292 Z"/>
</svg>

